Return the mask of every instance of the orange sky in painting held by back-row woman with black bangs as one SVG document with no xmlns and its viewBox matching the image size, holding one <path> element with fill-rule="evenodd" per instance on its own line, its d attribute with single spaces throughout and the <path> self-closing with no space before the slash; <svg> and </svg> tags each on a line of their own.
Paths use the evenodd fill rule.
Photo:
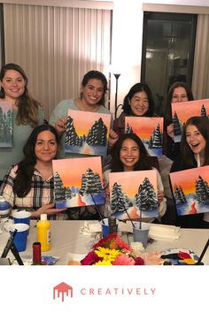
<svg viewBox="0 0 209 313">
<path fill-rule="evenodd" d="M 163 132 L 163 118 L 126 117 L 125 127 L 131 126 L 134 133 L 141 139 L 150 139 L 154 128 L 159 123 L 160 131 Z"/>
</svg>

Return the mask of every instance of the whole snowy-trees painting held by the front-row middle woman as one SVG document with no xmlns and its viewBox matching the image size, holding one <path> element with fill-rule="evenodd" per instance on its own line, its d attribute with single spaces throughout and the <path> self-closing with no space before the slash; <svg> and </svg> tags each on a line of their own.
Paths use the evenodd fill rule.
<svg viewBox="0 0 209 313">
<path fill-rule="evenodd" d="M 157 173 L 155 170 L 110 172 L 112 217 L 119 219 L 158 217 Z M 128 217 L 129 216 L 129 217 Z"/>
</svg>

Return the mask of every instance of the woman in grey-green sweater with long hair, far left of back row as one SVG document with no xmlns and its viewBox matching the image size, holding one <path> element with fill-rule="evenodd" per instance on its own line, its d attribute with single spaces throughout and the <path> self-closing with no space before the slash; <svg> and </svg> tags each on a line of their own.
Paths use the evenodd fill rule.
<svg viewBox="0 0 209 313">
<path fill-rule="evenodd" d="M 19 65 L 4 65 L 0 72 L 0 101 L 4 108 L 12 104 L 12 148 L 1 148 L 0 180 L 8 167 L 23 157 L 22 149 L 28 134 L 43 124 L 43 108 L 28 95 L 27 75 Z"/>
</svg>

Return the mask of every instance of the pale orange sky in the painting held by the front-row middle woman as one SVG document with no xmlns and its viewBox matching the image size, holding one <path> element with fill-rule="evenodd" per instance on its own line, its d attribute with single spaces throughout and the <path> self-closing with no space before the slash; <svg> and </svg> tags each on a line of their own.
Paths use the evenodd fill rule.
<svg viewBox="0 0 209 313">
<path fill-rule="evenodd" d="M 155 170 L 150 171 L 134 171 L 134 172 L 111 172 L 110 173 L 110 190 L 115 182 L 121 185 L 122 190 L 130 198 L 133 198 L 138 191 L 139 185 L 143 179 L 147 177 L 157 191 L 157 176 Z M 131 182 L 131 183 L 130 183 Z"/>
</svg>

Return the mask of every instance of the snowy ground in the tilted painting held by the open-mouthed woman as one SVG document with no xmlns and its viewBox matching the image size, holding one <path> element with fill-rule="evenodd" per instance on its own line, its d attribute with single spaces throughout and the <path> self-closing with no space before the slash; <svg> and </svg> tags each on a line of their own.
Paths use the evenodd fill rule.
<svg viewBox="0 0 209 313">
<path fill-rule="evenodd" d="M 208 202 L 198 203 L 196 196 L 193 194 L 186 195 L 187 203 L 176 204 L 177 214 L 178 215 L 187 215 L 190 214 L 190 210 L 193 206 L 197 209 L 197 213 L 209 212 L 209 199 Z M 195 202 L 195 204 L 194 204 Z"/>
</svg>

